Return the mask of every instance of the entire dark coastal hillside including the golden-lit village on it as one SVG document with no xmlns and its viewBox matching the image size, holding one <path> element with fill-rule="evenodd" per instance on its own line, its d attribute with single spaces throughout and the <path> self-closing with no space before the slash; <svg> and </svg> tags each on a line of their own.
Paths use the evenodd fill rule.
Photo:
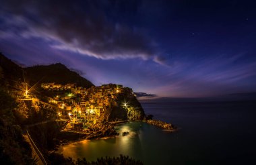
<svg viewBox="0 0 256 165">
<path fill-rule="evenodd" d="M 62 85 L 76 83 L 78 87 L 86 87 L 86 89 L 77 89 L 86 92 L 83 92 L 83 95 L 80 92 L 79 95 L 73 92 L 74 97 L 67 97 L 65 90 L 35 88 L 35 91 L 30 91 L 29 96 L 24 97 L 24 80 L 30 86 L 40 86 L 41 83 Z M 53 96 L 57 95 L 57 100 L 63 104 L 62 108 L 58 105 L 47 104 L 49 100 L 55 99 L 55 97 L 50 98 L 49 93 Z M 96 93 L 98 94 L 95 95 Z M 86 103 L 86 108 L 93 110 L 92 113 L 85 111 L 85 107 L 82 109 L 84 105 L 81 103 Z M 69 109 L 64 105 L 69 106 Z M 77 111 L 78 108 L 80 108 L 79 111 Z M 79 112 L 79 115 L 76 112 Z M 69 70 L 63 64 L 22 68 L 0 54 L 1 164 L 35 164 L 32 149 L 23 137 L 26 130 L 29 131 L 47 162 L 61 164 L 61 161 L 65 162 L 70 159 L 66 160 L 56 153 L 49 154 L 49 151 L 63 141 L 85 138 L 79 132 L 81 129 L 89 131 L 86 135 L 88 139 L 117 135 L 113 124 L 106 121 L 135 121 L 142 120 L 145 116 L 137 97 L 128 87 L 114 84 L 94 87 L 86 78 Z M 68 119 L 68 124 L 74 125 L 69 129 L 77 132 L 61 131 L 67 123 L 60 123 L 59 119 Z M 82 127 L 77 126 L 81 124 Z"/>
</svg>

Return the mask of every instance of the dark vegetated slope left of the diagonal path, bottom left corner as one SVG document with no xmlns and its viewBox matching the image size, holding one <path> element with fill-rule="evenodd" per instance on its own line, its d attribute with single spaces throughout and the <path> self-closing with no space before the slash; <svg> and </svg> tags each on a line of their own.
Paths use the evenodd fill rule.
<svg viewBox="0 0 256 165">
<path fill-rule="evenodd" d="M 0 89 L 0 164 L 34 164 L 29 144 L 13 115 L 15 99 Z"/>
</svg>

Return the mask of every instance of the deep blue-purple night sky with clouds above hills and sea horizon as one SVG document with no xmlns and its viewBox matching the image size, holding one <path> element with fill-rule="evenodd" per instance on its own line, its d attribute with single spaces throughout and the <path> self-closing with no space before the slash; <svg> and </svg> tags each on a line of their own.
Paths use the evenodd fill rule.
<svg viewBox="0 0 256 165">
<path fill-rule="evenodd" d="M 0 51 L 158 97 L 256 91 L 254 1 L 3 1 Z"/>
</svg>

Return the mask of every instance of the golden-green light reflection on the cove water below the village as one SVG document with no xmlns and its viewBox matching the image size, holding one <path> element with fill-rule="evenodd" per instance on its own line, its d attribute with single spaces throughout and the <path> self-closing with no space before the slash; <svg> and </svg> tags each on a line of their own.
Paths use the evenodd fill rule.
<svg viewBox="0 0 256 165">
<path fill-rule="evenodd" d="M 134 127 L 135 125 L 135 127 Z M 141 151 L 141 123 L 126 123 L 117 126 L 119 136 L 100 140 L 82 140 L 60 146 L 58 153 L 74 159 L 96 160 L 101 156 L 119 156 L 120 154 L 136 156 Z M 129 134 L 122 135 L 124 131 Z"/>
</svg>

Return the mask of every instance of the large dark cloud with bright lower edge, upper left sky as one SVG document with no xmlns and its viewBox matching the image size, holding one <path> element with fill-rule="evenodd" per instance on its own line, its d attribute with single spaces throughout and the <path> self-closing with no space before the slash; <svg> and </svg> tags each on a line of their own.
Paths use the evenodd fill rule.
<svg viewBox="0 0 256 165">
<path fill-rule="evenodd" d="M 53 48 L 101 59 L 156 57 L 156 43 L 144 30 L 126 25 L 115 16 L 120 11 L 135 15 L 140 2 L 130 1 L 126 8 L 123 3 L 4 1 L 0 7 L 0 33 L 17 35 L 18 30 L 24 38 L 43 38 Z"/>
</svg>

